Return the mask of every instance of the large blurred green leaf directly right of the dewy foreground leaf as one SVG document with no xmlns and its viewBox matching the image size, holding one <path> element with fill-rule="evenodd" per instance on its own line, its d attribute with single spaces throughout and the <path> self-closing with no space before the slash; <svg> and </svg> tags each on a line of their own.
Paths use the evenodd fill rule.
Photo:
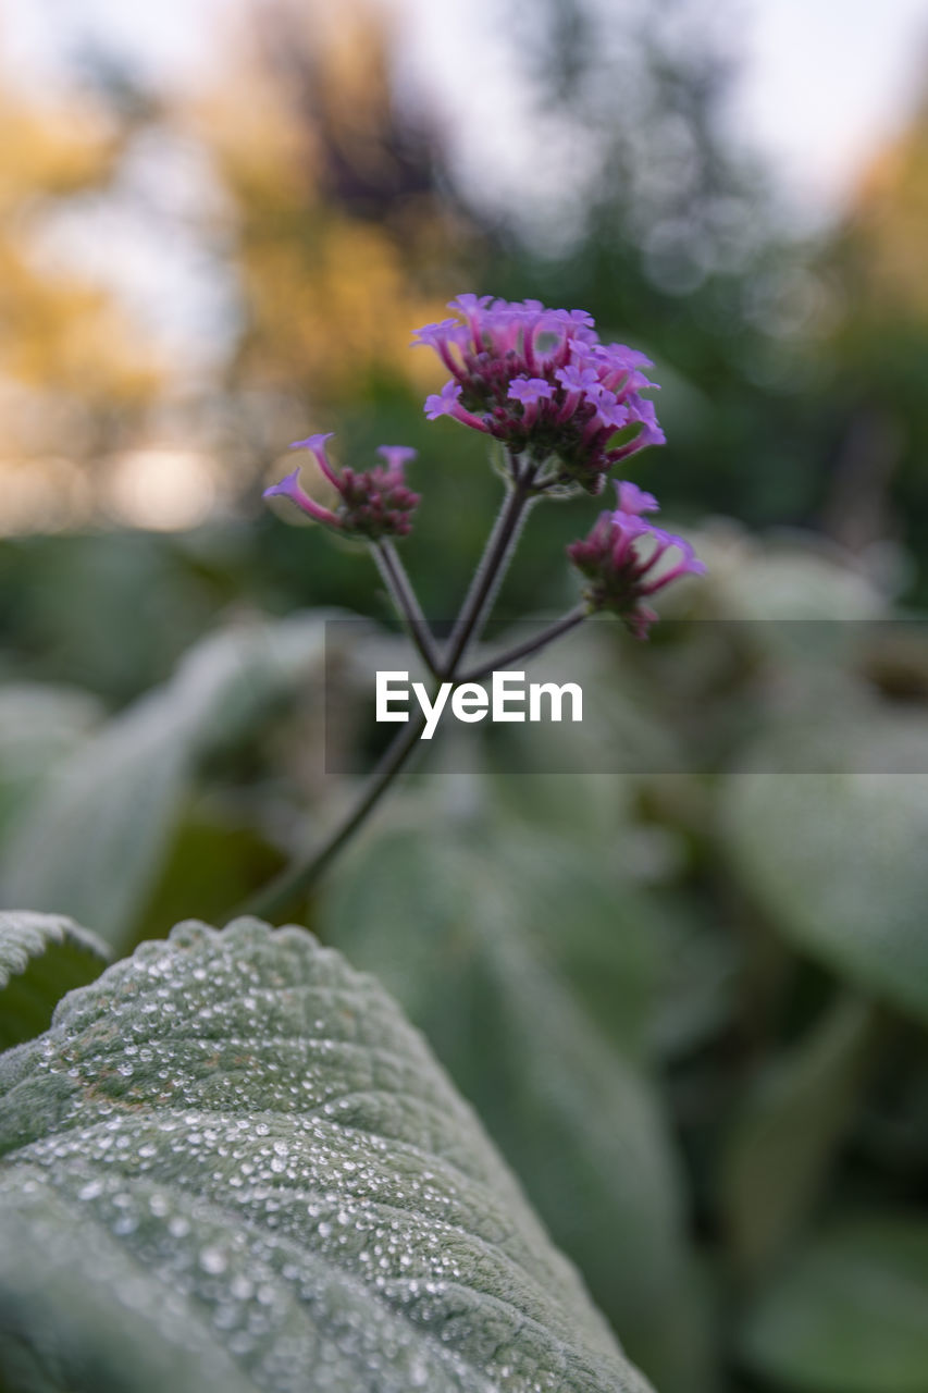
<svg viewBox="0 0 928 1393">
<path fill-rule="evenodd" d="M 399 995 L 633 1358 L 662 1393 L 695 1389 L 680 1176 L 634 1057 L 648 922 L 601 858 L 570 855 L 392 829 L 336 869 L 319 932 Z"/>
</svg>

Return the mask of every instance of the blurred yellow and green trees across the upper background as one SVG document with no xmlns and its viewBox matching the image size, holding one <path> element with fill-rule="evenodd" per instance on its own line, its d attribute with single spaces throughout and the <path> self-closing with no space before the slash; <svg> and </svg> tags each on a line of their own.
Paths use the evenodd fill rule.
<svg viewBox="0 0 928 1393">
<path fill-rule="evenodd" d="M 454 148 L 461 132 L 428 98 L 411 114 L 401 36 L 376 0 L 337 11 L 245 0 L 216 81 L 185 106 L 176 93 L 139 100 L 118 64 L 98 63 L 120 134 L 89 142 L 102 163 L 84 171 L 84 187 L 109 178 L 130 134 L 153 120 L 198 142 L 220 189 L 203 245 L 237 280 L 241 330 L 216 378 L 185 386 L 183 437 L 215 451 L 247 489 L 311 426 L 336 428 L 353 461 L 383 439 L 418 446 L 433 511 L 411 560 L 428 577 L 432 612 L 451 610 L 461 578 L 447 561 L 461 556 L 465 567 L 495 481 L 472 468 L 479 450 L 465 433 L 424 425 L 421 396 L 440 369 L 407 344 L 412 326 L 444 313 L 449 294 L 477 287 L 584 305 L 605 333 L 649 348 L 669 443 L 637 462 L 666 508 L 823 525 L 857 550 L 893 534 L 888 499 L 924 515 L 925 120 L 878 163 L 823 251 L 797 244 L 765 180 L 732 149 L 730 21 L 729 7 L 705 0 L 506 0 L 481 35 L 495 54 L 488 72 L 521 93 L 524 157 L 506 188 L 468 180 Z M 67 433 L 75 450 L 103 454 L 148 400 L 145 354 L 120 350 L 111 301 L 57 269 L 49 276 L 22 251 L 24 228 L 40 224 L 52 196 L 3 198 L 18 209 L 13 251 L 0 248 L 18 258 L 7 284 L 25 287 L 26 272 L 33 280 L 31 301 L 20 293 L 29 327 L 18 372 L 47 359 L 54 340 L 49 380 L 64 384 L 32 426 L 42 449 Z M 72 393 L 78 404 L 93 393 L 86 443 L 85 426 L 64 432 L 60 422 Z M 461 471 L 468 508 L 458 506 Z M 585 528 L 588 513 L 570 504 L 532 520 L 513 607 L 562 602 L 552 547 Z M 281 606 L 294 592 L 371 603 L 354 568 L 315 535 L 269 524 L 258 547 Z"/>
</svg>

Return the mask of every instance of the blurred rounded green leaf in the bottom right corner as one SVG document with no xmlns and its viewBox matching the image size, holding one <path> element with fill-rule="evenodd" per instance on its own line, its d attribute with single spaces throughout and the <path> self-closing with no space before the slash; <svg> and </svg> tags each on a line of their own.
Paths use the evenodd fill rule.
<svg viewBox="0 0 928 1393">
<path fill-rule="evenodd" d="M 800 1393 L 925 1393 L 928 1223 L 860 1219 L 811 1243 L 748 1315 L 743 1353 Z"/>
</svg>

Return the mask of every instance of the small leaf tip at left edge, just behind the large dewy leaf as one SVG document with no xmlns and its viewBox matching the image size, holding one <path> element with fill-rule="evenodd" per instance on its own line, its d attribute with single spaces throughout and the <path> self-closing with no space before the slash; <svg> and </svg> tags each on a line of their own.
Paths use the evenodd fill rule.
<svg viewBox="0 0 928 1393">
<path fill-rule="evenodd" d="M 59 914 L 0 910 L 0 1049 L 47 1029 L 64 993 L 99 976 L 109 956 Z"/>
</svg>

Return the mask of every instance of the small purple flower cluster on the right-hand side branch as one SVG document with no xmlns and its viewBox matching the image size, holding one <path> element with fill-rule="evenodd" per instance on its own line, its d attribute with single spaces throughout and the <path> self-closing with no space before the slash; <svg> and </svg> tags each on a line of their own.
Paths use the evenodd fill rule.
<svg viewBox="0 0 928 1393">
<path fill-rule="evenodd" d="M 705 566 L 684 538 L 649 522 L 644 513 L 658 513 L 658 501 L 635 483 L 616 483 L 619 507 L 601 513 L 592 531 L 567 547 L 571 561 L 591 582 L 585 599 L 592 609 L 612 610 L 635 638 L 647 638 L 658 618 L 642 600 L 680 575 L 702 575 Z M 658 568 L 667 552 L 677 559 Z"/>
</svg>

